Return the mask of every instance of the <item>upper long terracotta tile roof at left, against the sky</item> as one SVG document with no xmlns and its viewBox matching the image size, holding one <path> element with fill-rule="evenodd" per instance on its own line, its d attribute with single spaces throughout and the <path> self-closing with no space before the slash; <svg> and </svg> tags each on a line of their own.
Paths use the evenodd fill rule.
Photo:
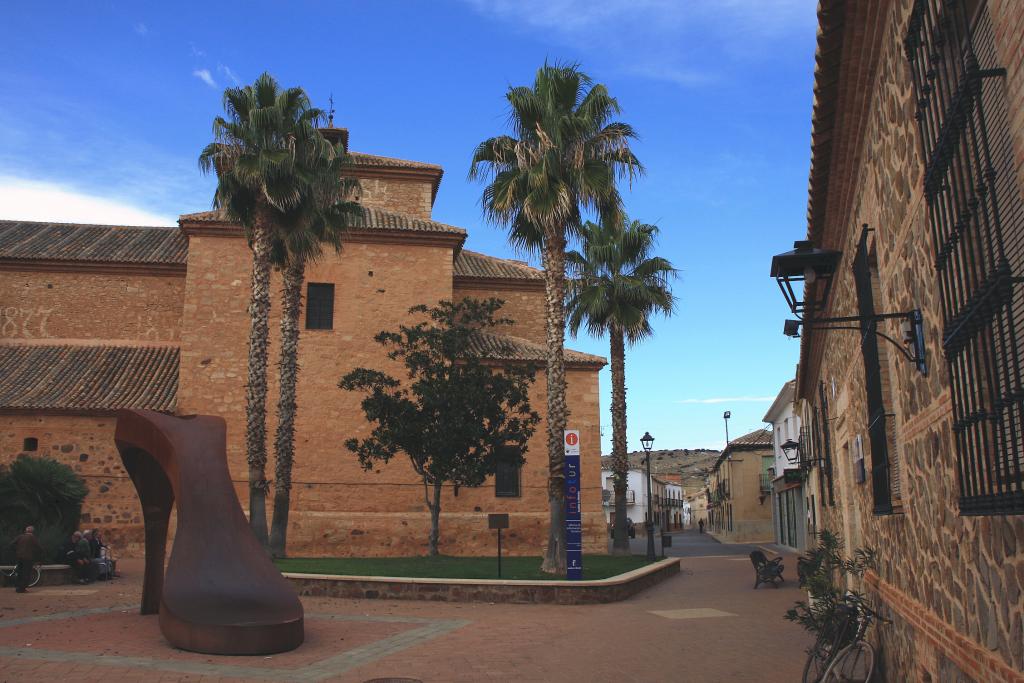
<svg viewBox="0 0 1024 683">
<path fill-rule="evenodd" d="M 187 255 L 176 227 L 0 220 L 0 259 L 183 265 Z"/>
</svg>

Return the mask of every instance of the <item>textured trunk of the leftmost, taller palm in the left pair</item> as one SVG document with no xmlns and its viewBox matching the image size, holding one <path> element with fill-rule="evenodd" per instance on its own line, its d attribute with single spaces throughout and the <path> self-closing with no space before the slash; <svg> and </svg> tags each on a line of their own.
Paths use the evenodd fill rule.
<svg viewBox="0 0 1024 683">
<path fill-rule="evenodd" d="M 270 325 L 270 217 L 258 209 L 253 225 L 252 296 L 249 301 L 249 367 L 246 383 L 246 458 L 249 524 L 266 547 L 266 365 Z"/>
</svg>

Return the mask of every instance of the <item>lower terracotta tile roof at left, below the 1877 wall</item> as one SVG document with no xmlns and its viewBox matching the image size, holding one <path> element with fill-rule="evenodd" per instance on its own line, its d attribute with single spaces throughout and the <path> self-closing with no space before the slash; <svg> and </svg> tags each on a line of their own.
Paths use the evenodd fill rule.
<svg viewBox="0 0 1024 683">
<path fill-rule="evenodd" d="M 0 345 L 0 409 L 174 410 L 173 346 Z"/>
</svg>

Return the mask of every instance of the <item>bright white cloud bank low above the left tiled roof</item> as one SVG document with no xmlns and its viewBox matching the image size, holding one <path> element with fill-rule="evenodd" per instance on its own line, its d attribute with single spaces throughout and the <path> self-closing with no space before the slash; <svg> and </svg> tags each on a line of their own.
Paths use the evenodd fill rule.
<svg viewBox="0 0 1024 683">
<path fill-rule="evenodd" d="M 0 175 L 0 207 L 6 220 L 50 220 L 113 225 L 174 225 L 122 200 L 89 195 L 55 182 Z"/>
</svg>

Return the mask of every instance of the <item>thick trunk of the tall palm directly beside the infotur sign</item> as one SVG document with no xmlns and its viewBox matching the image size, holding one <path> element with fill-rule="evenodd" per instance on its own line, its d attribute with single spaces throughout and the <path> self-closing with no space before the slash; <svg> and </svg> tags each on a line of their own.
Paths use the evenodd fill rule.
<svg viewBox="0 0 1024 683">
<path fill-rule="evenodd" d="M 548 231 L 544 242 L 548 391 L 548 547 L 541 570 L 565 572 L 565 236 Z"/>
</svg>

